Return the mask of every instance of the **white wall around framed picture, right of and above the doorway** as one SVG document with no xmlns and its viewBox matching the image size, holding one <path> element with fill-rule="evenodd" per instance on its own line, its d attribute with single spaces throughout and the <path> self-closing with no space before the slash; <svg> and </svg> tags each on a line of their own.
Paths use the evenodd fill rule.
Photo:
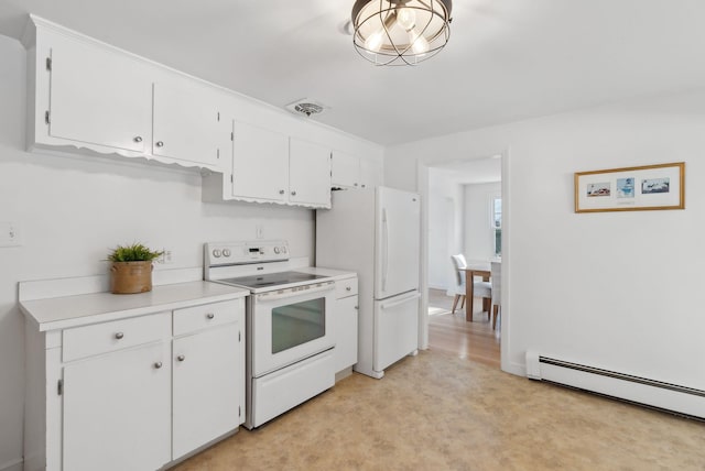
<svg viewBox="0 0 705 471">
<path fill-rule="evenodd" d="M 701 89 L 398 145 L 386 182 L 415 189 L 417 161 L 508 150 L 502 369 L 535 349 L 704 388 L 704 149 Z M 685 210 L 573 210 L 574 172 L 680 161 Z"/>
</svg>

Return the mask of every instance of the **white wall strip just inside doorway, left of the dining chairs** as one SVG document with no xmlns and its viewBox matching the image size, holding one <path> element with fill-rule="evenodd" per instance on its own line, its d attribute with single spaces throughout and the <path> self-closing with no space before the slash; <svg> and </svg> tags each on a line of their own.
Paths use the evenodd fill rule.
<svg viewBox="0 0 705 471">
<path fill-rule="evenodd" d="M 429 287 L 455 285 L 451 255 L 463 252 L 463 187 L 453 172 L 429 171 Z"/>
</svg>

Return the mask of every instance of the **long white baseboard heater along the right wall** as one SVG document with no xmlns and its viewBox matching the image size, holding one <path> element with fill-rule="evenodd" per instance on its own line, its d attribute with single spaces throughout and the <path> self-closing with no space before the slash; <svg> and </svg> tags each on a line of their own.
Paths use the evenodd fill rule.
<svg viewBox="0 0 705 471">
<path fill-rule="evenodd" d="M 527 352 L 527 376 L 705 420 L 705 391 Z"/>
</svg>

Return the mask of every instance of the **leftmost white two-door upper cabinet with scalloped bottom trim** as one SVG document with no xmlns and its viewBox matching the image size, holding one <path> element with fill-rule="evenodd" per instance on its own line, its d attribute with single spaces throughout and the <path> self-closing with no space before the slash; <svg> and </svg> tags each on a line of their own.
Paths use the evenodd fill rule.
<svg viewBox="0 0 705 471">
<path fill-rule="evenodd" d="M 229 125 L 206 83 L 32 17 L 29 147 L 220 169 Z"/>
</svg>

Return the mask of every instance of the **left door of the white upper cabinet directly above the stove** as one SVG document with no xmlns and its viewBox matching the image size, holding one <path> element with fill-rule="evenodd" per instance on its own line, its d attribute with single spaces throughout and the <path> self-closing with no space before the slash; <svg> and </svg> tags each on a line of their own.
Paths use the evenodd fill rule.
<svg viewBox="0 0 705 471">
<path fill-rule="evenodd" d="M 268 129 L 235 122 L 232 196 L 286 201 L 289 138 Z"/>
</svg>

